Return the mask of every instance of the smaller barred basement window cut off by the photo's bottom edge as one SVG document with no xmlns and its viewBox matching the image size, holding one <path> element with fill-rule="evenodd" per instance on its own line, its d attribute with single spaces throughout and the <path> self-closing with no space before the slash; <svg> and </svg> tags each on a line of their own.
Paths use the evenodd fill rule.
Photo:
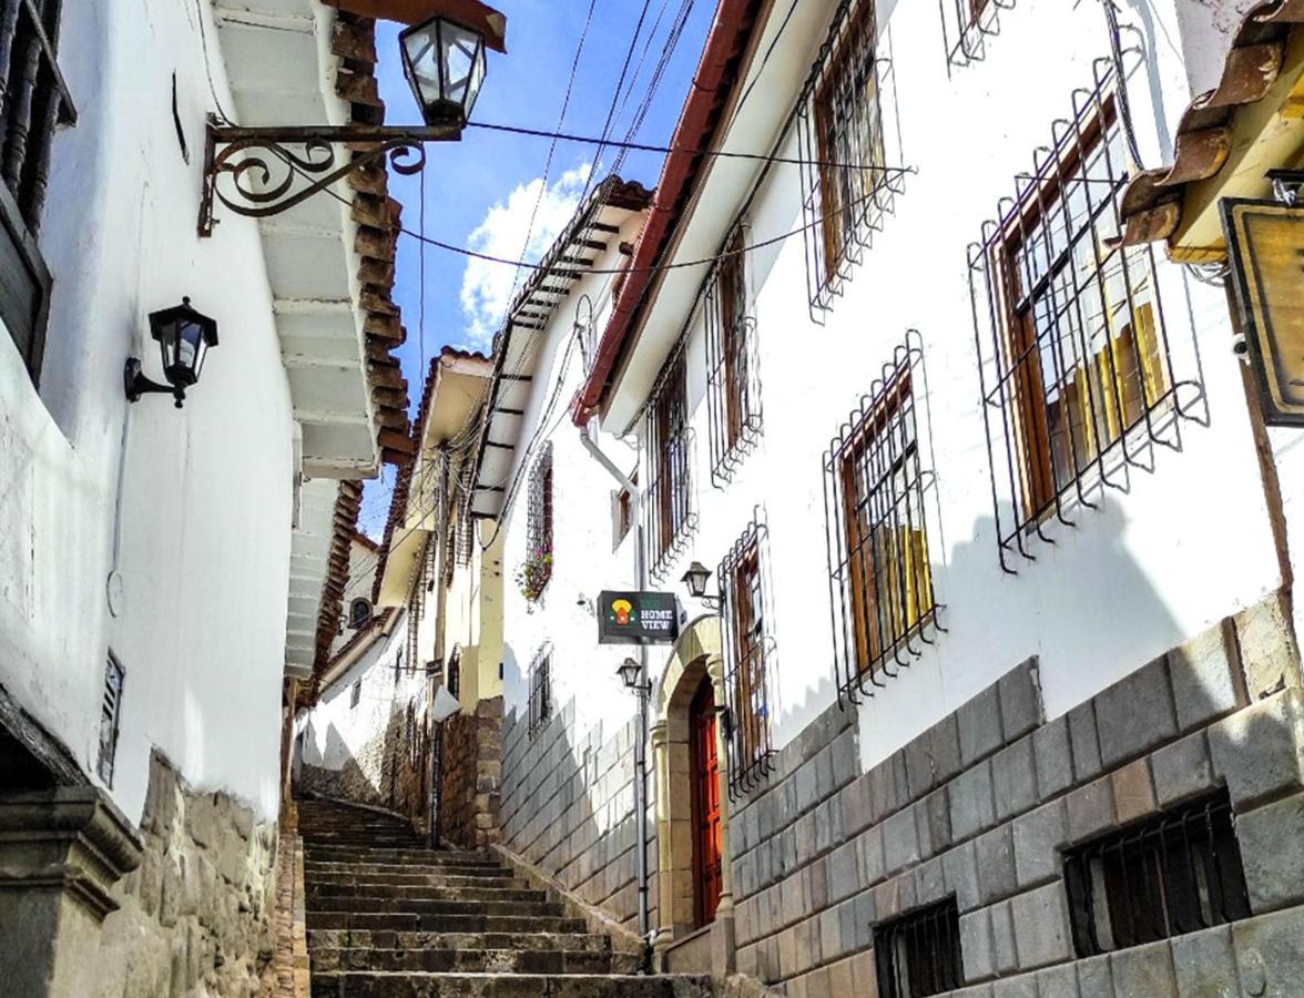
<svg viewBox="0 0 1304 998">
<path fill-rule="evenodd" d="M 925 998 L 960 988 L 960 909 L 955 898 L 874 929 L 879 998 Z"/>
</svg>

